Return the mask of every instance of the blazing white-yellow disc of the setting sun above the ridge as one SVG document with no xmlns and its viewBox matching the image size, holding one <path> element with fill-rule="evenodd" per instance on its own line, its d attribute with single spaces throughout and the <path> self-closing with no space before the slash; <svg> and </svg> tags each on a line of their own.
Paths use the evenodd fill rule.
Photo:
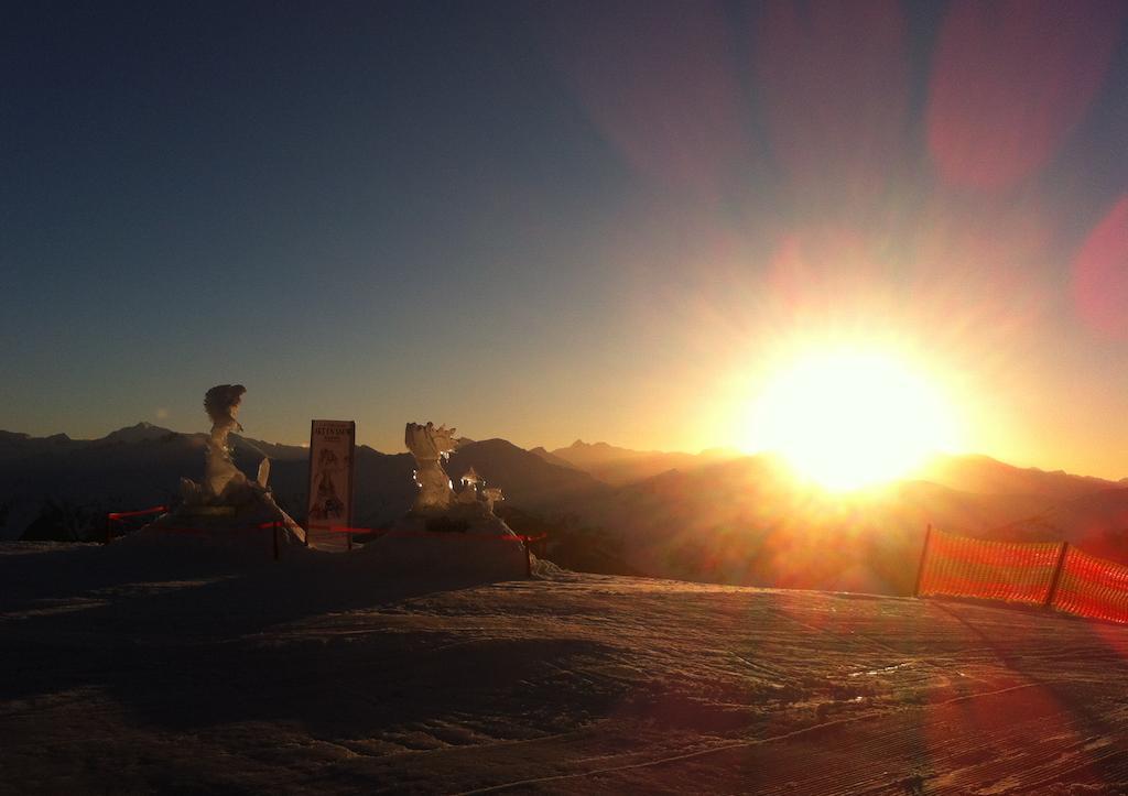
<svg viewBox="0 0 1128 796">
<path fill-rule="evenodd" d="M 876 352 L 793 361 L 769 381 L 756 414 L 761 450 L 834 490 L 892 480 L 953 443 L 951 413 L 935 386 Z"/>
</svg>

